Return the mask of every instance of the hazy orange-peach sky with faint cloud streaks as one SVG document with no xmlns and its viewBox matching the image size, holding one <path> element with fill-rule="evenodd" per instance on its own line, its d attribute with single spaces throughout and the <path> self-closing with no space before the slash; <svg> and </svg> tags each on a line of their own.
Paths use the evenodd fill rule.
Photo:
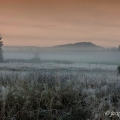
<svg viewBox="0 0 120 120">
<path fill-rule="evenodd" d="M 120 0 L 0 0 L 4 45 L 120 44 Z"/>
</svg>

